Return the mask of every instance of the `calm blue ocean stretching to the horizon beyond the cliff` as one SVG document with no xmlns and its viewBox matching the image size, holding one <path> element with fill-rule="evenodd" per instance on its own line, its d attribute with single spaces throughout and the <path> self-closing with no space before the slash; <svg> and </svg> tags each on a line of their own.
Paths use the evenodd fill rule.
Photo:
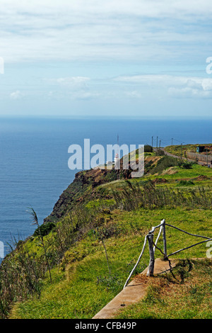
<svg viewBox="0 0 212 333">
<path fill-rule="evenodd" d="M 70 145 L 161 146 L 212 142 L 212 120 L 116 118 L 0 118 L 0 242 L 33 234 L 28 207 L 42 223 L 73 181 Z M 152 139 L 153 137 L 153 139 Z M 2 244 L 2 243 L 1 243 Z"/>
</svg>

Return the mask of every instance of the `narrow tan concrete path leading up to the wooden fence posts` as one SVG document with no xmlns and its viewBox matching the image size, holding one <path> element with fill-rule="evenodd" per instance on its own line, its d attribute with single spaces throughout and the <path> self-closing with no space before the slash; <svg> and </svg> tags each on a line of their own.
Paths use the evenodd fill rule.
<svg viewBox="0 0 212 333">
<path fill-rule="evenodd" d="M 171 266 L 175 266 L 175 261 L 171 261 Z M 154 274 L 162 273 L 170 270 L 168 261 L 155 259 Z M 133 281 L 129 283 L 113 300 L 98 312 L 93 319 L 108 319 L 115 313 L 133 303 L 139 302 L 146 295 L 146 287 L 149 277 L 146 276 L 148 267 L 139 274 Z"/>
</svg>

